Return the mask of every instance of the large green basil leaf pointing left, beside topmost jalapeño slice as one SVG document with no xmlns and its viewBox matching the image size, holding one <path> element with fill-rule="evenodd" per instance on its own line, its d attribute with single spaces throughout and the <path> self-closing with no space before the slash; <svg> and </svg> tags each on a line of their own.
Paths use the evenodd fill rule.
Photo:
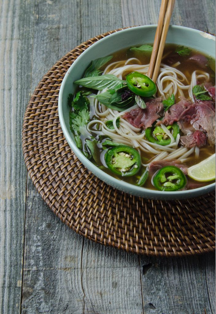
<svg viewBox="0 0 216 314">
<path fill-rule="evenodd" d="M 121 83 L 125 83 L 125 81 L 112 74 L 105 74 L 101 76 L 81 78 L 74 83 L 92 89 L 103 90 L 105 88 L 112 89 Z"/>
</svg>

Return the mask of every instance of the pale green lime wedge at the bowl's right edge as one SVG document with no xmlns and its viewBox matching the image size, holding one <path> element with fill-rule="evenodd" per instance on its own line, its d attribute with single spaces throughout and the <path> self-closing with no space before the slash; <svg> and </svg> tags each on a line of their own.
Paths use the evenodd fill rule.
<svg viewBox="0 0 216 314">
<path fill-rule="evenodd" d="M 215 179 L 215 154 L 187 170 L 188 176 L 196 181 L 207 182 Z"/>
</svg>

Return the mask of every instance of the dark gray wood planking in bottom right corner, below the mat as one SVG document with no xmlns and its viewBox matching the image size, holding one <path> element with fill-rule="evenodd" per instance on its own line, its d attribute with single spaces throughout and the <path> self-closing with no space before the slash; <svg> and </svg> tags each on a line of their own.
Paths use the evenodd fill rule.
<svg viewBox="0 0 216 314">
<path fill-rule="evenodd" d="M 145 314 L 215 313 L 215 254 L 141 257 Z M 205 312 L 206 311 L 206 312 Z"/>
</svg>

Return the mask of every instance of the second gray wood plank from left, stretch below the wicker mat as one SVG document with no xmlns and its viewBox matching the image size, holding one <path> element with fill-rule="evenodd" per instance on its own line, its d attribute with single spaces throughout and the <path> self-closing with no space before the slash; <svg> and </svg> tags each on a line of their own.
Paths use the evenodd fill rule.
<svg viewBox="0 0 216 314">
<path fill-rule="evenodd" d="M 22 313 L 83 314 L 83 238 L 44 205 L 28 182 Z"/>
</svg>

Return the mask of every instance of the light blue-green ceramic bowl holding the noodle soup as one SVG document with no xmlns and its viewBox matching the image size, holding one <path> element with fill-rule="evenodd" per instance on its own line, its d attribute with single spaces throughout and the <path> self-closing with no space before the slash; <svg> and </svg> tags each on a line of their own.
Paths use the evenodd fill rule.
<svg viewBox="0 0 216 314">
<path fill-rule="evenodd" d="M 191 198 L 212 191 L 215 184 L 212 183 L 205 187 L 187 191 L 161 192 L 150 190 L 144 187 L 137 187 L 130 183 L 115 179 L 104 171 L 98 169 L 97 166 L 92 164 L 91 161 L 89 161 L 81 153 L 81 151 L 76 147 L 74 136 L 71 133 L 69 127 L 69 111 L 71 108 L 69 108 L 67 104 L 67 98 L 69 93 L 75 92 L 77 85 L 73 84 L 73 82 L 79 78 L 82 78 L 84 71 L 91 60 L 108 56 L 115 51 L 130 46 L 139 46 L 145 43 L 153 43 L 156 27 L 156 25 L 145 25 L 121 30 L 117 33 L 102 38 L 87 48 L 86 51 L 84 51 L 71 65 L 62 81 L 58 98 L 59 120 L 64 136 L 75 155 L 86 166 L 86 168 L 88 168 L 98 178 L 112 187 L 143 198 L 161 200 Z M 215 37 L 200 30 L 194 30 L 182 26 L 170 26 L 166 42 L 188 46 L 215 58 Z"/>
</svg>

